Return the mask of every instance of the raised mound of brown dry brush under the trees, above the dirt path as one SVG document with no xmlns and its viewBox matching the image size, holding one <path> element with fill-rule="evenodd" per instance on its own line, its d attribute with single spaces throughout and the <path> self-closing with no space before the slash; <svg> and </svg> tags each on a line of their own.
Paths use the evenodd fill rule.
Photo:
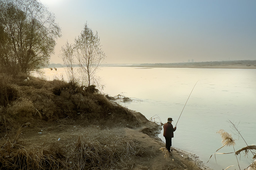
<svg viewBox="0 0 256 170">
<path fill-rule="evenodd" d="M 33 121 L 36 119 L 55 122 L 64 118 L 86 122 L 112 120 L 129 122 L 127 124 L 137 121 L 128 109 L 113 104 L 94 86 L 78 87 L 76 83 L 46 81 L 31 76 L 25 82 L 27 77 L 21 75 L 10 79 L 7 87 L 9 103 L 1 101 L 1 96 L 6 94 L 0 86 L 0 131 L 8 130 L 5 128 L 9 126 L 7 124 L 15 126 L 29 122 L 31 126 L 37 126 L 38 121 Z M 12 121 L 3 122 L 7 117 Z"/>
</svg>

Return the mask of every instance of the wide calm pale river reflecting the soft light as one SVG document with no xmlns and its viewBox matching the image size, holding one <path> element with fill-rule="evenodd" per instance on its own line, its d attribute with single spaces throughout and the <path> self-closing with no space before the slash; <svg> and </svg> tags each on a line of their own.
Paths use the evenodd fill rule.
<svg viewBox="0 0 256 170">
<path fill-rule="evenodd" d="M 60 78 L 65 71 L 45 69 L 46 78 Z M 163 123 L 172 117 L 177 123 L 188 96 L 197 82 L 174 132 L 173 146 L 197 154 L 206 163 L 211 154 L 222 146 L 220 134 L 224 129 L 236 140 L 235 150 L 245 147 L 228 120 L 238 125 L 248 145 L 256 144 L 256 69 L 212 68 L 134 68 L 102 67 L 98 72 L 104 93 L 137 98 L 121 103 L 131 110 L 142 113 L 148 119 L 159 116 Z M 157 116 L 154 116 L 157 115 Z M 163 131 L 159 137 L 164 140 Z M 233 152 L 224 147 L 218 153 Z M 252 163 L 252 154 L 238 156 L 241 169 Z M 216 154 L 207 163 L 217 169 L 239 169 L 234 154 Z"/>
</svg>

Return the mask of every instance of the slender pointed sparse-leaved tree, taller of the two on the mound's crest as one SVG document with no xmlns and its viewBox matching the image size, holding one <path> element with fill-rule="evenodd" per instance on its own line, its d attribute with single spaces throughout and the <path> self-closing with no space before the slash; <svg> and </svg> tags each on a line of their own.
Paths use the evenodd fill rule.
<svg viewBox="0 0 256 170">
<path fill-rule="evenodd" d="M 77 57 L 82 81 L 86 80 L 87 85 L 98 85 L 98 79 L 95 73 L 103 62 L 105 53 L 100 44 L 98 32 L 93 33 L 87 23 L 84 25 L 78 38 L 75 38 L 75 55 Z"/>
</svg>

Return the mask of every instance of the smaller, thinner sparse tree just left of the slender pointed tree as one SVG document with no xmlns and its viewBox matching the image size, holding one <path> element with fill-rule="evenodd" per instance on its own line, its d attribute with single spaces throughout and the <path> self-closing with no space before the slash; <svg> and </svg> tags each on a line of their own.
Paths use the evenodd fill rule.
<svg viewBox="0 0 256 170">
<path fill-rule="evenodd" d="M 60 58 L 63 60 L 63 64 L 65 65 L 65 71 L 68 75 L 69 82 L 75 83 L 77 80 L 76 71 L 74 71 L 74 47 L 72 44 L 69 44 L 68 41 L 61 47 Z"/>
</svg>

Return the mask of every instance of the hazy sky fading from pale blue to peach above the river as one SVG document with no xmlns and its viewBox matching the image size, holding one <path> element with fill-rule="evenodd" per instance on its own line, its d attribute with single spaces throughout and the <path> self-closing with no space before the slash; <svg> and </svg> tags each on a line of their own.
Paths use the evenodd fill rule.
<svg viewBox="0 0 256 170">
<path fill-rule="evenodd" d="M 176 63 L 256 59 L 255 0 L 41 0 L 55 14 L 61 46 L 84 24 L 101 39 L 104 63 Z"/>
</svg>

